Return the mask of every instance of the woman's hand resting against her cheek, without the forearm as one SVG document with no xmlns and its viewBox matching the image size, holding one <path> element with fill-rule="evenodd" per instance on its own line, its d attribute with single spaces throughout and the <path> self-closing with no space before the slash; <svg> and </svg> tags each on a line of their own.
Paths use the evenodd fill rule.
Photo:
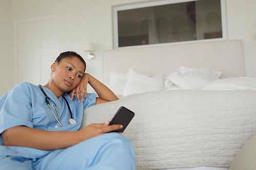
<svg viewBox="0 0 256 170">
<path fill-rule="evenodd" d="M 70 99 L 71 101 L 74 99 L 75 94 L 76 94 L 76 99 L 78 103 L 80 103 L 80 98 L 81 98 L 81 101 L 83 101 L 83 96 L 86 97 L 87 95 L 87 85 L 89 83 L 89 78 L 90 78 L 89 74 L 87 73 L 83 74 L 83 77 L 81 78 L 80 83 L 76 86 L 76 88 L 74 88 L 71 91 L 71 99 Z"/>
</svg>

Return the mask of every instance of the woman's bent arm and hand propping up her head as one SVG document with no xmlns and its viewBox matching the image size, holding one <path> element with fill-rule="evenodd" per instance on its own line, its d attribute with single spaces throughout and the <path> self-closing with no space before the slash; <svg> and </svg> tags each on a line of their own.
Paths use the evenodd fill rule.
<svg viewBox="0 0 256 170">
<path fill-rule="evenodd" d="M 99 98 L 96 98 L 96 105 L 118 100 L 117 96 L 108 87 L 106 87 L 100 81 L 86 73 L 83 75 L 80 84 L 72 90 L 71 100 L 73 100 L 74 94 L 76 94 L 76 96 L 79 96 L 80 93 L 81 101 L 83 101 L 83 92 L 84 96 L 86 96 L 88 83 L 92 86 L 92 88 L 99 96 Z M 80 98 L 77 98 L 77 100 L 78 102 L 80 102 Z"/>
</svg>

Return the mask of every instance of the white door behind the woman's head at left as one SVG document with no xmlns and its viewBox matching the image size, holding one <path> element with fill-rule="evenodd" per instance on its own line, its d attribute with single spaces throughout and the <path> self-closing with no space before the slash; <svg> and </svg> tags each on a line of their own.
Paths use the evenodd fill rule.
<svg viewBox="0 0 256 170">
<path fill-rule="evenodd" d="M 45 85 L 50 78 L 50 66 L 58 56 L 57 18 L 19 20 L 14 23 L 14 32 L 15 82 Z"/>
</svg>

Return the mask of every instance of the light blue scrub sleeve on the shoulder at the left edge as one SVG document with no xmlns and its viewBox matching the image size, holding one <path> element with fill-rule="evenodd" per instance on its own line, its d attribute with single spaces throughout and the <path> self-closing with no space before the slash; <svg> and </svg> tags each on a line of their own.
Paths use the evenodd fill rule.
<svg viewBox="0 0 256 170">
<path fill-rule="evenodd" d="M 0 99 L 0 134 L 14 126 L 33 128 L 30 90 L 18 84 Z"/>
</svg>

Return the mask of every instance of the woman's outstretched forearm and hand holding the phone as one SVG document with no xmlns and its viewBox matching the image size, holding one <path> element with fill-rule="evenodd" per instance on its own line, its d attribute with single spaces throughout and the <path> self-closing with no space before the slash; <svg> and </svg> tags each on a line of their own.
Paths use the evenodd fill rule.
<svg viewBox="0 0 256 170">
<path fill-rule="evenodd" d="M 57 150 L 71 147 L 83 140 L 122 128 L 121 125 L 108 125 L 109 121 L 104 124 L 91 124 L 76 132 L 53 132 L 26 126 L 15 126 L 4 131 L 2 138 L 6 146 Z"/>
</svg>

